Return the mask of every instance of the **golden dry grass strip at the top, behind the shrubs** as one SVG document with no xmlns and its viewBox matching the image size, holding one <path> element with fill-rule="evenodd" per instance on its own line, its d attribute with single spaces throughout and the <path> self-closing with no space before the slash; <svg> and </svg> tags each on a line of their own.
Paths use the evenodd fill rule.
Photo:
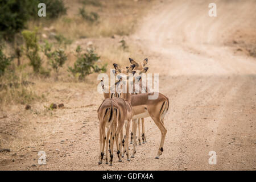
<svg viewBox="0 0 256 182">
<path fill-rule="evenodd" d="M 138 19 L 146 13 L 151 1 L 141 0 L 138 2 L 129 1 L 95 1 L 100 2 L 100 6 L 93 3 L 83 3 L 84 0 L 67 0 L 67 15 L 51 21 L 30 22 L 29 27 L 34 26 L 50 27 L 65 37 L 75 40 L 78 38 L 99 38 L 113 35 L 130 35 L 134 32 Z M 92 2 L 92 1 L 85 1 Z M 82 19 L 79 9 L 85 7 L 86 12 L 94 12 L 99 15 L 97 22 L 88 22 Z"/>
</svg>

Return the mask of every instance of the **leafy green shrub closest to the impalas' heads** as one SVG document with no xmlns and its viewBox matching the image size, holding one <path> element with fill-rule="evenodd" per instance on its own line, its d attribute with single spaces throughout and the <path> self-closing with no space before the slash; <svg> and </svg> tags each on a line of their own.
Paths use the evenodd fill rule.
<svg viewBox="0 0 256 182">
<path fill-rule="evenodd" d="M 77 60 L 74 63 L 74 68 L 69 67 L 68 71 L 74 76 L 78 75 L 79 80 L 82 80 L 82 78 L 92 74 L 93 72 L 106 72 L 107 64 L 103 65 L 101 68 L 96 65 L 100 56 L 94 53 L 93 49 L 88 49 L 86 53 L 81 54 L 81 47 L 78 46 L 76 52 Z"/>
</svg>

